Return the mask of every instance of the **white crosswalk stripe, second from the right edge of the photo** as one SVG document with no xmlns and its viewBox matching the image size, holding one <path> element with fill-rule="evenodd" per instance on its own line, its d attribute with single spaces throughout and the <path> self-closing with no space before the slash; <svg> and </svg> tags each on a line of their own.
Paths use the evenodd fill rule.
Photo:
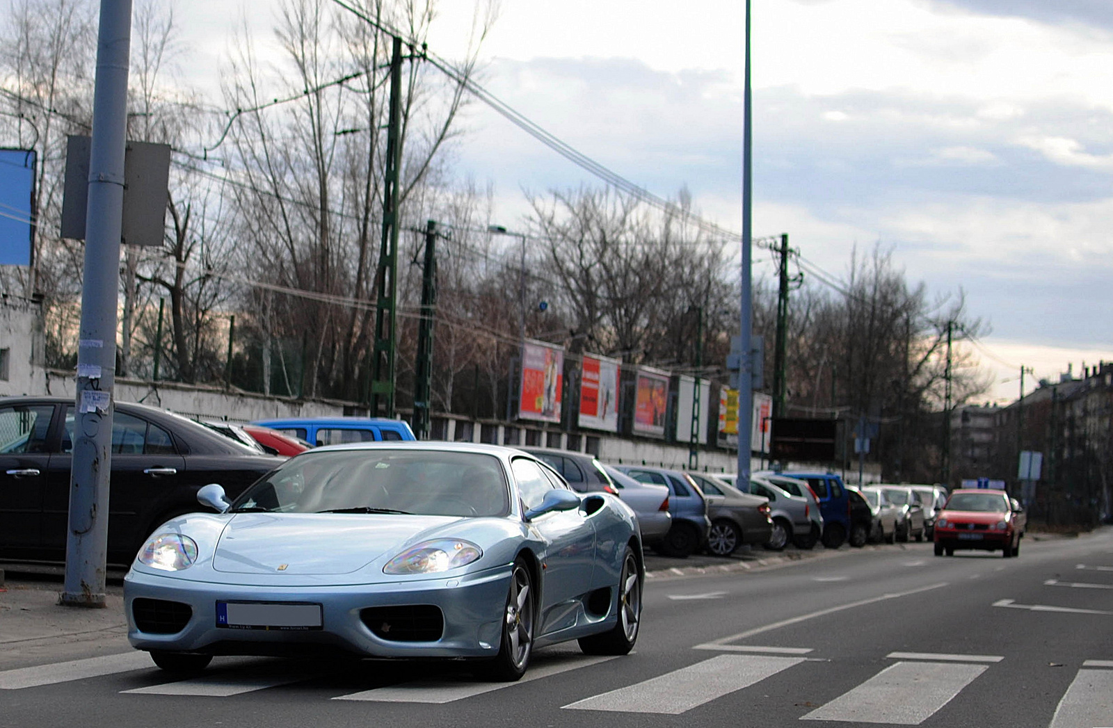
<svg viewBox="0 0 1113 728">
<path fill-rule="evenodd" d="M 985 665 L 897 662 L 800 720 L 918 726 L 987 669 Z"/>
</svg>

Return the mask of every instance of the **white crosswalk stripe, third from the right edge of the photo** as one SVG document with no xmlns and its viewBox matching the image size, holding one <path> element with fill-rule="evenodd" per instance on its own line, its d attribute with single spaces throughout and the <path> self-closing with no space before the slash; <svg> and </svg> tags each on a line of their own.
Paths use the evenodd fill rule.
<svg viewBox="0 0 1113 728">
<path fill-rule="evenodd" d="M 804 662 L 804 658 L 719 655 L 710 660 L 563 707 L 571 710 L 678 716 L 800 662 Z"/>
</svg>

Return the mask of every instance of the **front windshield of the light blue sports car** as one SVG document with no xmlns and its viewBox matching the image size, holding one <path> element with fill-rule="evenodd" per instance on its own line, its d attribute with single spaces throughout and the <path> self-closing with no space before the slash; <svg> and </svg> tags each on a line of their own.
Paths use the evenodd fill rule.
<svg viewBox="0 0 1113 728">
<path fill-rule="evenodd" d="M 229 512 L 483 517 L 510 510 L 501 462 L 436 450 L 306 452 L 255 483 Z"/>
</svg>

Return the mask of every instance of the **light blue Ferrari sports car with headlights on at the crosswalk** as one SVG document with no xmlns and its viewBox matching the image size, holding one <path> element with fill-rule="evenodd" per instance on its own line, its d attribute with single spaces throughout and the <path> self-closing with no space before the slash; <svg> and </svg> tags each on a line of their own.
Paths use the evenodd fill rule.
<svg viewBox="0 0 1113 728">
<path fill-rule="evenodd" d="M 519 450 L 380 442 L 309 450 L 218 511 L 161 525 L 125 580 L 128 639 L 160 668 L 339 650 L 474 658 L 516 680 L 534 647 L 624 655 L 644 565 L 633 512 Z"/>
</svg>

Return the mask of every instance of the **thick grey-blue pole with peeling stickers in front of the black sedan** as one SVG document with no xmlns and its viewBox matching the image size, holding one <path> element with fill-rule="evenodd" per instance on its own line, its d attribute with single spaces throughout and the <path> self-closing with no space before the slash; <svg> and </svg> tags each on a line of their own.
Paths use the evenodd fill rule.
<svg viewBox="0 0 1113 728">
<path fill-rule="evenodd" d="M 81 327 L 77 353 L 77 414 L 70 465 L 66 581 L 59 598 L 60 603 L 75 607 L 105 606 L 130 43 L 131 0 L 101 0 L 85 228 L 85 281 L 81 286 Z"/>
</svg>

